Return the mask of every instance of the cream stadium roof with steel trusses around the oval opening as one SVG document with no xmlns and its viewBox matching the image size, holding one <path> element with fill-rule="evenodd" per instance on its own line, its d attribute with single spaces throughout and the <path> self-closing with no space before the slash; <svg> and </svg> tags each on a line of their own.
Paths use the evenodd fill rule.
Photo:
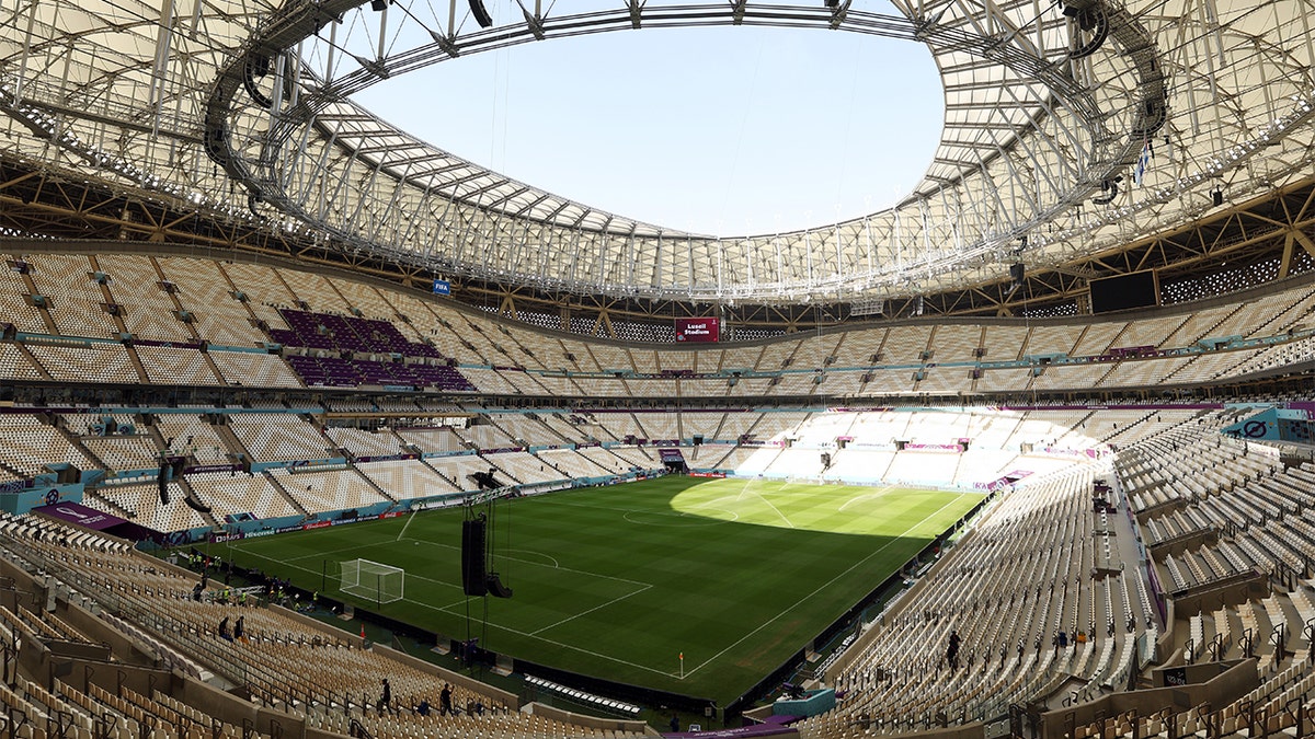
<svg viewBox="0 0 1315 739">
<path fill-rule="evenodd" d="M 377 7 L 20 0 L 0 12 L 0 151 L 441 274 L 753 302 L 963 289 L 1311 171 L 1303 0 L 522 0 L 489 28 L 468 0 Z M 514 181 L 351 100 L 459 55 L 692 25 L 924 43 L 945 126 L 922 183 L 861 218 L 713 238 Z"/>
</svg>

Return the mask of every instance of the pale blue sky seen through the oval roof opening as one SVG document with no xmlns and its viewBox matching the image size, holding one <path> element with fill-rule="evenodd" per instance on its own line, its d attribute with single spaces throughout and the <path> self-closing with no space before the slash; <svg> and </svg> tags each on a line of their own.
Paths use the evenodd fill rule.
<svg viewBox="0 0 1315 739">
<path fill-rule="evenodd" d="M 893 205 L 931 163 L 944 107 L 922 45 L 744 26 L 533 42 L 401 75 L 355 100 L 534 187 L 727 237 Z"/>
</svg>

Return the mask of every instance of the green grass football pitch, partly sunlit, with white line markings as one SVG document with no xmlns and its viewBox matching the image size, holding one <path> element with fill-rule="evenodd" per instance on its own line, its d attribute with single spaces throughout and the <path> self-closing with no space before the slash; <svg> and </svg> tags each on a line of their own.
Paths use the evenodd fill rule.
<svg viewBox="0 0 1315 739">
<path fill-rule="evenodd" d="M 377 609 L 392 618 L 726 705 L 981 498 L 672 476 L 498 501 L 492 569 L 514 596 L 487 600 L 487 625 L 484 600 L 462 594 L 460 509 L 212 551 L 370 609 L 371 600 L 339 592 L 339 563 L 400 567 L 405 597 Z"/>
</svg>

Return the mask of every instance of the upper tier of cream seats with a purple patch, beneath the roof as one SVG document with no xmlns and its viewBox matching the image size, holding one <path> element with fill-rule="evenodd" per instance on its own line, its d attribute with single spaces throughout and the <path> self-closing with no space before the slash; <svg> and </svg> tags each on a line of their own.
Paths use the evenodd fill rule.
<svg viewBox="0 0 1315 739">
<path fill-rule="evenodd" d="M 1303 362 L 1315 334 L 1311 279 L 1102 318 L 905 320 L 658 347 L 277 264 L 3 258 L 0 377 L 17 381 L 658 398 L 1190 387 Z"/>
</svg>

